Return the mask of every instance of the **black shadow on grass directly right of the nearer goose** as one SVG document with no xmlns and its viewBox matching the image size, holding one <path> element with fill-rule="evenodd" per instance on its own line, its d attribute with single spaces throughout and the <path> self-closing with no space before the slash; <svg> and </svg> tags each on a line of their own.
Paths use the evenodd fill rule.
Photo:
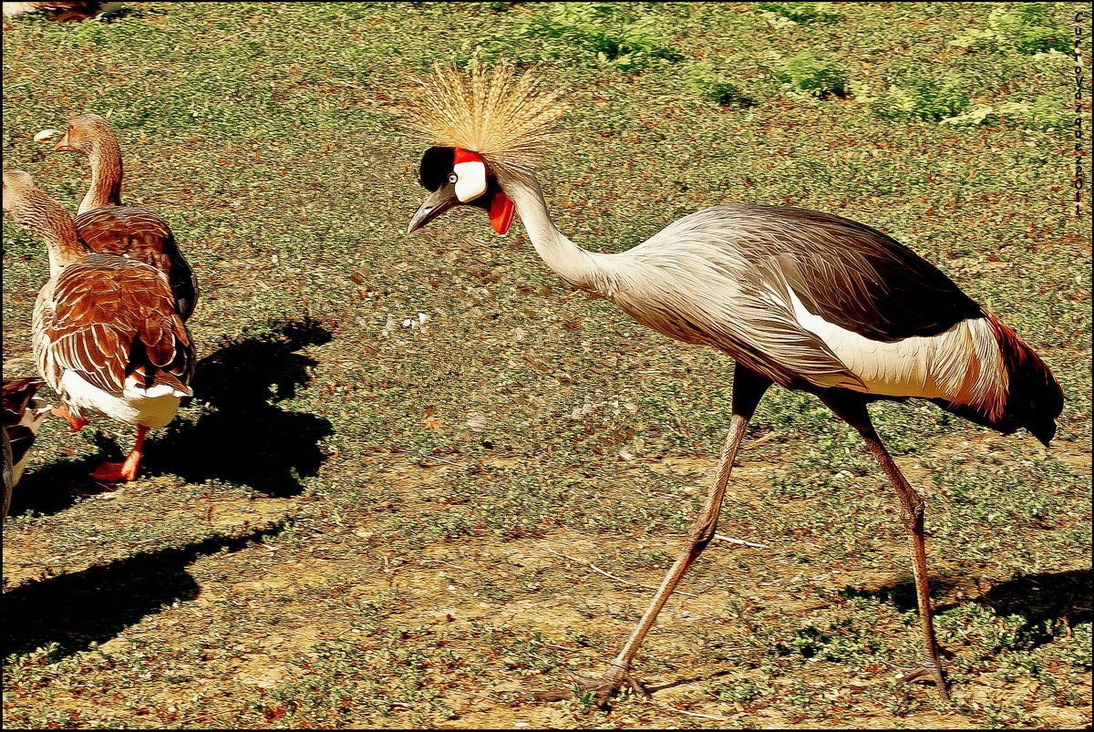
<svg viewBox="0 0 1094 732">
<path fill-rule="evenodd" d="M 300 493 L 300 478 L 318 473 L 327 457 L 319 442 L 334 430 L 322 417 L 287 411 L 277 403 L 294 398 L 311 380 L 317 362 L 298 351 L 331 338 L 329 329 L 304 318 L 225 340 L 201 359 L 194 375 L 200 416 L 175 420 L 146 444 L 149 473 L 189 483 L 217 478 L 269 496 Z"/>
</svg>

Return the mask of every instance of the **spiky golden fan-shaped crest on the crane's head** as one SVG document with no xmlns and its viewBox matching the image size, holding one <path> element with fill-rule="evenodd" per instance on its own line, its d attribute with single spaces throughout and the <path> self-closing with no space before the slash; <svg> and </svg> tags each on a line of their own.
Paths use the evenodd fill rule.
<svg viewBox="0 0 1094 732">
<path fill-rule="evenodd" d="M 486 69 L 478 55 L 467 70 L 433 67 L 416 79 L 417 89 L 399 112 L 430 144 L 459 148 L 488 162 L 525 167 L 555 137 L 552 124 L 563 112 L 562 92 L 535 71 L 510 63 Z"/>
</svg>

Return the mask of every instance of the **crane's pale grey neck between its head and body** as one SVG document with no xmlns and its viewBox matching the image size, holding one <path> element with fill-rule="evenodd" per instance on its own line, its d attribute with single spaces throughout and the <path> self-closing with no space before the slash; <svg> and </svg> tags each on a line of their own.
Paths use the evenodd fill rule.
<svg viewBox="0 0 1094 732">
<path fill-rule="evenodd" d="M 547 266 L 575 287 L 602 292 L 601 258 L 606 255 L 581 248 L 558 230 L 550 220 L 547 201 L 535 176 L 524 172 L 499 171 L 498 182 L 513 201 L 516 213 L 528 232 L 528 239 L 532 240 L 532 246 Z"/>
</svg>

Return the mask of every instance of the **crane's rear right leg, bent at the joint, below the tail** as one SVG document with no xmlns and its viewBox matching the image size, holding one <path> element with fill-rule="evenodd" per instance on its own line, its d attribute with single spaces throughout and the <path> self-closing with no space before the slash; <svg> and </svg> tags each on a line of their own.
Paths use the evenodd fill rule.
<svg viewBox="0 0 1094 732">
<path fill-rule="evenodd" d="M 846 420 L 859 431 L 862 439 L 866 441 L 870 454 L 881 465 L 889 483 L 896 489 L 900 523 L 911 543 L 911 570 L 916 576 L 916 597 L 919 602 L 919 621 L 923 631 L 923 660 L 922 667 L 913 671 L 904 677 L 903 681 L 913 681 L 928 677 L 934 682 L 939 689 L 939 696 L 943 701 L 950 700 L 950 693 L 946 689 L 946 681 L 942 674 L 942 662 L 939 659 L 939 642 L 934 637 L 934 618 L 931 609 L 931 592 L 927 573 L 927 544 L 923 537 L 923 499 L 908 484 L 908 480 L 900 473 L 893 456 L 882 443 L 882 439 L 874 430 L 870 420 L 870 413 L 866 411 L 865 402 L 854 396 L 826 394 L 821 399 L 827 404 L 837 416 Z"/>
</svg>

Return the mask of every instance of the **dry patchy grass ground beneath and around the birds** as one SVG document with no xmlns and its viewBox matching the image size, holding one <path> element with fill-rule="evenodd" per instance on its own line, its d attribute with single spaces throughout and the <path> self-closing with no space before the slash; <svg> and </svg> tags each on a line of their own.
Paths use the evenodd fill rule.
<svg viewBox="0 0 1094 732">
<path fill-rule="evenodd" d="M 128 4 L 5 24 L 4 167 L 74 209 L 85 165 L 31 136 L 109 116 L 127 199 L 201 279 L 197 394 L 117 489 L 86 472 L 130 433 L 44 429 L 4 526 L 5 727 L 1090 724 L 1090 218 L 1069 204 L 1072 62 L 1046 50 L 1079 4 Z M 476 45 L 572 90 L 543 181 L 580 243 L 722 201 L 834 211 L 1056 370 L 1050 450 L 874 409 L 928 497 L 952 704 L 893 681 L 917 615 L 884 478 L 780 391 L 721 524 L 766 548 L 697 563 L 639 655 L 652 700 L 531 700 L 600 672 L 642 612 L 732 370 L 570 292 L 520 226 L 403 235 L 421 150 L 391 100 Z M 5 374 L 32 369 L 45 272 L 5 220 Z"/>
</svg>

